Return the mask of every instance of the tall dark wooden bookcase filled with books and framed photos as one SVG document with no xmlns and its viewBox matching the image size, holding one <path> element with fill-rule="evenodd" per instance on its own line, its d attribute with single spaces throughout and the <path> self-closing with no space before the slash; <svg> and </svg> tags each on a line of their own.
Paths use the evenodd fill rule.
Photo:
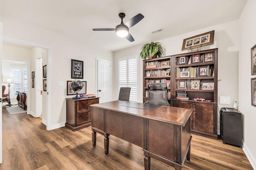
<svg viewBox="0 0 256 170">
<path fill-rule="evenodd" d="M 148 99 L 148 83 L 167 83 L 170 105 L 193 109 L 192 133 L 219 138 L 218 49 L 146 59 L 143 77 L 143 102 Z"/>
</svg>

